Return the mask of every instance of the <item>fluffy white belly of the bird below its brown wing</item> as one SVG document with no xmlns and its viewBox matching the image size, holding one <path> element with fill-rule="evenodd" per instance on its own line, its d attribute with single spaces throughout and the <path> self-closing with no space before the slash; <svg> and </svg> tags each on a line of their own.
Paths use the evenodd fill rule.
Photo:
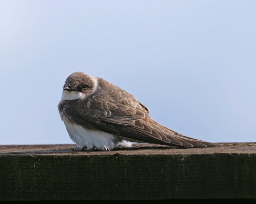
<svg viewBox="0 0 256 204">
<path fill-rule="evenodd" d="M 81 125 L 71 122 L 66 116 L 63 116 L 63 122 L 68 134 L 77 147 L 85 147 L 87 150 L 96 148 L 97 150 L 112 150 L 120 145 L 131 147 L 132 142 L 123 139 L 120 136 L 113 135 L 104 131 L 84 128 Z"/>
</svg>

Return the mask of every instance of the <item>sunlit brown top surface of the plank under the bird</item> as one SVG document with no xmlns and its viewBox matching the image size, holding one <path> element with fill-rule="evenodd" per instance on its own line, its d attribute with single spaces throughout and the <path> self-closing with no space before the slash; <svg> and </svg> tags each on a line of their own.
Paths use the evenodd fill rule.
<svg viewBox="0 0 256 204">
<path fill-rule="evenodd" d="M 256 142 L 252 143 L 220 143 L 222 147 L 180 148 L 155 144 L 135 143 L 130 148 L 112 151 L 72 151 L 74 144 L 57 145 L 1 145 L 0 156 L 23 155 L 191 155 L 191 154 L 256 154 Z"/>
</svg>

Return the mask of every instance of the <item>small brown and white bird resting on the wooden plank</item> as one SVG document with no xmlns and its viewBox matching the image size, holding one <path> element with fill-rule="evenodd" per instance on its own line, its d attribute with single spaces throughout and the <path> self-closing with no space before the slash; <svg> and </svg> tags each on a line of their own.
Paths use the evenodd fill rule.
<svg viewBox="0 0 256 204">
<path fill-rule="evenodd" d="M 173 147 L 218 147 L 173 131 L 151 118 L 132 94 L 109 81 L 83 72 L 68 76 L 58 104 L 77 151 L 110 151 L 133 143 Z"/>
</svg>

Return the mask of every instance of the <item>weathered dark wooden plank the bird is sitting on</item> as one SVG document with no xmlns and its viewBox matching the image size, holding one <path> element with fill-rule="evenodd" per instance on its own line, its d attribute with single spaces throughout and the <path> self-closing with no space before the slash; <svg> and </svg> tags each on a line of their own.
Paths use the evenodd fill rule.
<svg viewBox="0 0 256 204">
<path fill-rule="evenodd" d="M 256 198 L 256 143 L 115 151 L 0 146 L 0 200 Z"/>
</svg>

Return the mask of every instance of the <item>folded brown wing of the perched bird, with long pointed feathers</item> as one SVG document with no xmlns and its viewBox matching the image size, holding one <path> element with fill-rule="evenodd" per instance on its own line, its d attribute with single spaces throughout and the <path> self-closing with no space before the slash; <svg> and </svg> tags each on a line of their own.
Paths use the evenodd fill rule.
<svg viewBox="0 0 256 204">
<path fill-rule="evenodd" d="M 103 101 L 103 100 L 102 100 Z M 125 138 L 162 145 L 181 147 L 214 147 L 209 143 L 193 139 L 172 131 L 152 120 L 148 109 L 140 103 L 114 104 L 113 101 L 73 100 L 64 104 L 66 116 L 86 128 L 95 128 Z M 89 104 L 88 104 L 89 103 Z"/>
</svg>

